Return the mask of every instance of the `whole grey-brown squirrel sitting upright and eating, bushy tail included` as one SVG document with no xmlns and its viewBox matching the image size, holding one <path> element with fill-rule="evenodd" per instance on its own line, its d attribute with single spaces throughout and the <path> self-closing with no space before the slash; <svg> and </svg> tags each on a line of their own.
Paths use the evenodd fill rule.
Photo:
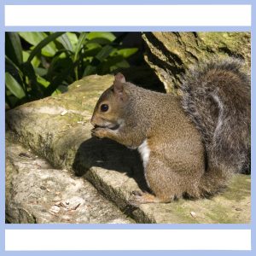
<svg viewBox="0 0 256 256">
<path fill-rule="evenodd" d="M 145 90 L 123 74 L 100 96 L 92 136 L 137 148 L 150 189 L 131 205 L 198 199 L 222 191 L 232 174 L 249 172 L 249 76 L 235 58 L 214 59 L 183 76 L 182 96 Z"/>
</svg>

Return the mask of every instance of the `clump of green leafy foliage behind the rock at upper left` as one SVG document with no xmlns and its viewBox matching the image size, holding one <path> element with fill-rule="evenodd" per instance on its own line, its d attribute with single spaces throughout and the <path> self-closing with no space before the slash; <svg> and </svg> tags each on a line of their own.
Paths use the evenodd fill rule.
<svg viewBox="0 0 256 256">
<path fill-rule="evenodd" d="M 125 33 L 6 32 L 5 94 L 9 108 L 61 93 L 90 74 L 129 67 L 137 48 L 122 48 Z"/>
</svg>

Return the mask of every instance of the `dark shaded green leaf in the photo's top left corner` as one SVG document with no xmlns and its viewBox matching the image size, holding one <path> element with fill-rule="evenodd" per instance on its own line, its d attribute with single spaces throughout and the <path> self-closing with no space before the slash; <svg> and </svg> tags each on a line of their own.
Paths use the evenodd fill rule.
<svg viewBox="0 0 256 256">
<path fill-rule="evenodd" d="M 5 54 L 16 65 L 20 65 L 23 61 L 20 37 L 17 32 L 5 33 Z"/>
</svg>

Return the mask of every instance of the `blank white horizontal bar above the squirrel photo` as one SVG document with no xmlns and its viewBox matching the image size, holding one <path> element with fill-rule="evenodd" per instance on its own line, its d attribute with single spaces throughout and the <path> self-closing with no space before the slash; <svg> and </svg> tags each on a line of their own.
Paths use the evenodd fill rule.
<svg viewBox="0 0 256 256">
<path fill-rule="evenodd" d="M 5 26 L 102 25 L 251 26 L 251 5 L 5 5 Z"/>
</svg>

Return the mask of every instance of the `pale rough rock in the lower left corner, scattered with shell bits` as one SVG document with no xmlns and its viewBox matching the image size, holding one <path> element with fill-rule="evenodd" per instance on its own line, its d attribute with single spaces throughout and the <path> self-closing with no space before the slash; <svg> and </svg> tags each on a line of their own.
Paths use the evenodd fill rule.
<svg viewBox="0 0 256 256">
<path fill-rule="evenodd" d="M 9 223 L 132 223 L 84 178 L 46 160 L 20 157 L 27 149 L 7 141 L 6 220 Z M 56 197 L 57 195 L 57 197 Z"/>
</svg>

